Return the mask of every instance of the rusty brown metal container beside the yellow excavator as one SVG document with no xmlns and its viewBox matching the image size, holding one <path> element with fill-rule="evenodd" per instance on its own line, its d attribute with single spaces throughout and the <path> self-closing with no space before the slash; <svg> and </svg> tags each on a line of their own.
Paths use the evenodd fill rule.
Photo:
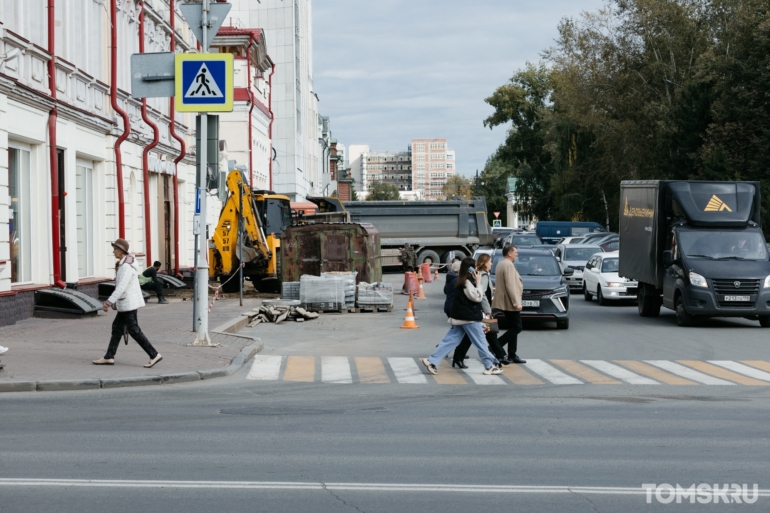
<svg viewBox="0 0 770 513">
<path fill-rule="evenodd" d="M 368 223 L 291 226 L 281 235 L 281 281 L 356 271 L 356 283 L 382 281 L 380 233 Z"/>
</svg>

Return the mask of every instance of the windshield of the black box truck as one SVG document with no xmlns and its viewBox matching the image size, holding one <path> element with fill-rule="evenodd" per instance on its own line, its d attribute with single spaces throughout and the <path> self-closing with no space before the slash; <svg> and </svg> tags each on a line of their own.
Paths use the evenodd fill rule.
<svg viewBox="0 0 770 513">
<path fill-rule="evenodd" d="M 767 244 L 756 231 L 680 230 L 681 251 L 690 258 L 710 260 L 767 260 Z"/>
</svg>

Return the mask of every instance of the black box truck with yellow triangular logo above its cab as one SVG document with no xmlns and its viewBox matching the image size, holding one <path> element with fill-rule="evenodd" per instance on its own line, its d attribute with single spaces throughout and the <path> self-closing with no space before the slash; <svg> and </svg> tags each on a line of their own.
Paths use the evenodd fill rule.
<svg viewBox="0 0 770 513">
<path fill-rule="evenodd" d="M 744 317 L 770 327 L 760 222 L 759 182 L 621 182 L 619 274 L 639 282 L 639 314 L 665 306 L 680 326 Z"/>
</svg>

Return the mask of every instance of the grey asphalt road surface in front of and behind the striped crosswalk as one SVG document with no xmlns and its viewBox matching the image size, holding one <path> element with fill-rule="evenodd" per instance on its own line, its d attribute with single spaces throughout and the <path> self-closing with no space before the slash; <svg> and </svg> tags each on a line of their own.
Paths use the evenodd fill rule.
<svg viewBox="0 0 770 513">
<path fill-rule="evenodd" d="M 271 354 L 428 354 L 394 315 L 268 326 Z M 524 358 L 770 360 L 758 323 L 683 329 L 572 296 L 568 331 L 528 326 Z M 352 324 L 351 324 L 352 323 Z M 374 326 L 366 328 L 365 326 Z M 652 503 L 648 483 L 770 488 L 770 387 L 255 382 L 0 395 L 0 512 L 767 511 Z M 44 481 L 50 480 L 50 481 Z M 71 480 L 71 481 L 66 481 Z"/>
</svg>

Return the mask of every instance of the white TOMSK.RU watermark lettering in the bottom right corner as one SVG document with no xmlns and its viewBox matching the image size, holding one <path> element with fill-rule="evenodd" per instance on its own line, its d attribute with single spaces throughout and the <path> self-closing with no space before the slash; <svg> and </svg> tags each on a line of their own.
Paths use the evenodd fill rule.
<svg viewBox="0 0 770 513">
<path fill-rule="evenodd" d="M 647 492 L 647 504 L 652 501 L 661 504 L 671 504 L 676 502 L 681 504 L 689 502 L 695 504 L 754 504 L 759 500 L 759 486 L 743 484 L 699 484 L 690 485 L 682 488 L 679 484 L 672 486 L 668 483 L 655 484 L 645 483 L 642 489 Z"/>
</svg>

